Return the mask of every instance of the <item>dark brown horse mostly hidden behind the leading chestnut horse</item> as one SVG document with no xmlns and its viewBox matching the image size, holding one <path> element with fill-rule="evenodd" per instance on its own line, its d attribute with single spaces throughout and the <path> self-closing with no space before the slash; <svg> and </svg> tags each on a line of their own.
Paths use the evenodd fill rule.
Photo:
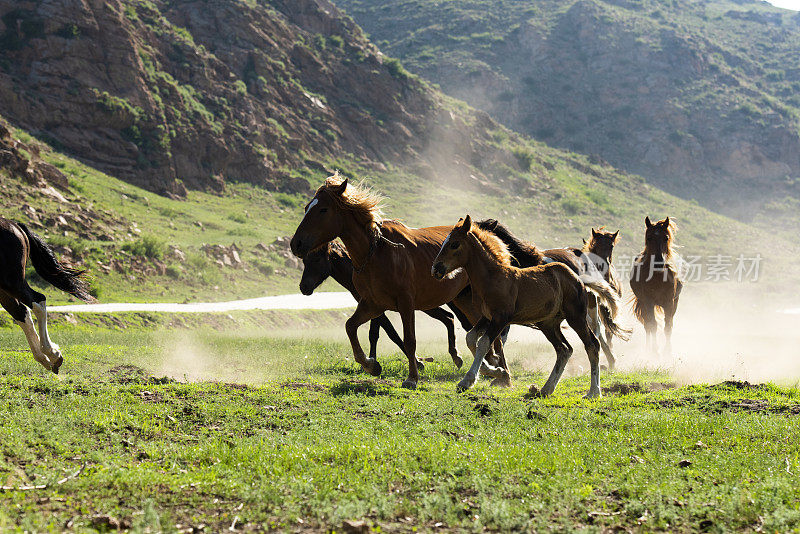
<svg viewBox="0 0 800 534">
<path fill-rule="evenodd" d="M 300 292 L 303 295 L 311 295 L 328 277 L 332 277 L 353 295 L 356 302 L 361 300 L 356 291 L 356 286 L 353 284 L 353 260 L 350 259 L 347 250 L 338 242 L 331 241 L 327 245 L 323 245 L 306 254 L 306 257 L 303 258 L 303 267 L 303 276 L 300 279 Z M 456 367 L 461 368 L 463 360 L 459 356 L 458 348 L 456 347 L 453 314 L 443 308 L 426 310 L 425 313 L 440 321 L 447 328 L 448 351 Z M 384 313 L 372 319 L 369 324 L 369 357 L 373 360 L 377 359 L 377 346 L 381 328 L 389 336 L 389 339 L 400 347 L 400 350 L 404 350 L 403 340 L 400 339 L 392 322 Z M 420 369 L 424 367 L 420 360 L 417 360 L 417 367 Z"/>
</svg>

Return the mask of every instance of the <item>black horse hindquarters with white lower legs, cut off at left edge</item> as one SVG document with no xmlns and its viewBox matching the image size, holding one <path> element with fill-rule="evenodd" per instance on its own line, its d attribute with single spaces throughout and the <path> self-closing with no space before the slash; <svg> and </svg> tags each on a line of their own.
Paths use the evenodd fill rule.
<svg viewBox="0 0 800 534">
<path fill-rule="evenodd" d="M 85 271 L 59 262 L 42 239 L 22 223 L 0 217 L 0 304 L 17 323 L 31 347 L 31 353 L 45 369 L 58 374 L 64 362 L 58 345 L 47 332 L 47 300 L 25 281 L 25 266 L 30 258 L 33 268 L 44 280 L 85 302 L 92 302 L 84 282 Z M 30 310 L 36 315 L 39 334 Z"/>
</svg>

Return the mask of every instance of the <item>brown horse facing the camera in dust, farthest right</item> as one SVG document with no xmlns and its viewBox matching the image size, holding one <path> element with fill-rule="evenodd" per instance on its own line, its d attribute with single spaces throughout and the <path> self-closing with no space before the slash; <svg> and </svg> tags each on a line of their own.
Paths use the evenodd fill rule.
<svg viewBox="0 0 800 534">
<path fill-rule="evenodd" d="M 631 270 L 633 313 L 644 325 L 647 350 L 657 353 L 656 311 L 663 311 L 664 335 L 667 338 L 665 353 L 669 355 L 672 351 L 672 323 L 683 289 L 672 250 L 677 228 L 669 217 L 655 224 L 650 222 L 650 217 L 645 217 L 644 222 L 644 250 L 634 260 Z"/>
</svg>

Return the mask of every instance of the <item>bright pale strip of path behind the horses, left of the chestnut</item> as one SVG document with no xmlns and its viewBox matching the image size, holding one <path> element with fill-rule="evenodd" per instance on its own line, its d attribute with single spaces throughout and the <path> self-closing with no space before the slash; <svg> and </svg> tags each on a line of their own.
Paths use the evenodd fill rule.
<svg viewBox="0 0 800 534">
<path fill-rule="evenodd" d="M 347 292 L 320 292 L 311 296 L 295 293 L 255 299 L 234 300 L 230 302 L 196 302 L 178 304 L 159 303 L 112 303 L 76 304 L 51 306 L 48 311 L 65 313 L 118 313 L 118 312 L 168 312 L 168 313 L 215 313 L 237 310 L 332 310 L 353 308 L 356 302 Z"/>
</svg>

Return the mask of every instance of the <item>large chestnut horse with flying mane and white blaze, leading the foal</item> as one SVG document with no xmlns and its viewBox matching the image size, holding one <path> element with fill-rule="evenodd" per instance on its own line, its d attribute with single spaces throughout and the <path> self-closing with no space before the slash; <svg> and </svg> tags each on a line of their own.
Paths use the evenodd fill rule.
<svg viewBox="0 0 800 534">
<path fill-rule="evenodd" d="M 387 310 L 400 313 L 408 378 L 403 387 L 419 380 L 414 310 L 430 310 L 454 300 L 467 286 L 463 272 L 443 280 L 430 276 L 430 266 L 450 232 L 449 226 L 409 228 L 385 220 L 381 197 L 348 184 L 338 174 L 317 189 L 292 237 L 292 252 L 304 258 L 310 251 L 342 240 L 353 261 L 353 285 L 361 299 L 345 323 L 355 360 L 373 376 L 381 373 L 377 360 L 366 358 L 358 341 L 358 327 Z"/>
</svg>

